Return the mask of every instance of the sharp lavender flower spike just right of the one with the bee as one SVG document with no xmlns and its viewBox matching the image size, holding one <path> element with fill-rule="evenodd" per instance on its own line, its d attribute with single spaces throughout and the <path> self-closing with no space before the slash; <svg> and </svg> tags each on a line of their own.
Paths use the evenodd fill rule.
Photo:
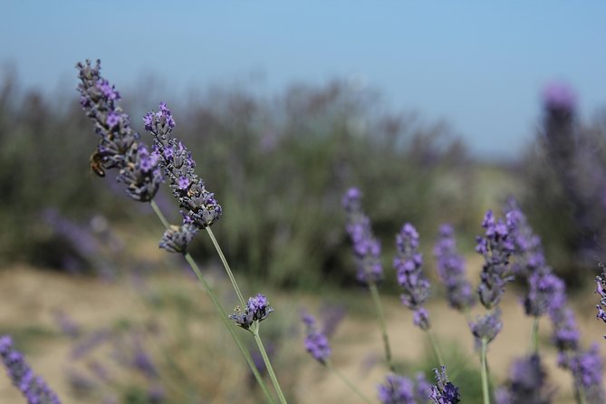
<svg viewBox="0 0 606 404">
<path fill-rule="evenodd" d="M 194 172 L 196 162 L 191 158 L 191 152 L 172 136 L 175 120 L 166 103 L 160 102 L 159 109 L 144 117 L 145 130 L 154 137 L 154 151 L 159 154 L 159 165 L 178 199 L 184 223 L 204 229 L 215 223 L 223 211 L 215 195 L 207 191 L 202 178 Z"/>
</svg>

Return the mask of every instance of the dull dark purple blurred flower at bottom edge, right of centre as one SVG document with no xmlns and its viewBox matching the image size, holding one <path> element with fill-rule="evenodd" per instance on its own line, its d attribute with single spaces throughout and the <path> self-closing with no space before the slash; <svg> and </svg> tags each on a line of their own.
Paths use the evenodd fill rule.
<svg viewBox="0 0 606 404">
<path fill-rule="evenodd" d="M 497 404 L 550 404 L 553 388 L 547 384 L 547 374 L 538 355 L 514 362 L 506 387 L 496 393 Z"/>
</svg>

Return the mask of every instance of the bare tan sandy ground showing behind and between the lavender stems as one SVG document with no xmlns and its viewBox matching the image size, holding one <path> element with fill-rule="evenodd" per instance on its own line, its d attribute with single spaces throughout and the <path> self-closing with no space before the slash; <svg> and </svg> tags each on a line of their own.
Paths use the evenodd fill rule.
<svg viewBox="0 0 606 404">
<path fill-rule="evenodd" d="M 166 287 L 173 284 L 179 293 L 201 293 L 183 273 L 156 274 L 149 278 L 149 284 Z M 123 318 L 142 316 L 139 293 L 131 282 L 105 283 L 99 280 L 73 277 L 52 272 L 34 271 L 20 267 L 10 271 L 0 272 L 0 332 L 13 332 L 29 327 L 30 330 L 50 330 L 54 336 L 44 332 L 30 337 L 27 342 L 27 356 L 34 370 L 63 398 L 64 404 L 78 403 L 82 400 L 73 397 L 69 390 L 65 368 L 72 341 L 58 337 L 58 327 L 55 320 L 57 310 L 69 314 L 74 322 L 85 329 L 94 329 L 99 324 L 116 322 Z M 363 291 L 360 291 L 361 298 Z M 585 302 L 575 304 L 576 313 L 582 327 L 583 342 L 603 342 L 601 335 L 606 332 L 603 323 L 595 320 L 593 304 L 595 298 L 587 293 Z M 291 314 L 296 314 L 296 307 L 315 306 L 320 304 L 318 297 L 281 295 L 274 293 L 275 307 L 289 305 Z M 356 298 L 356 296 L 354 296 Z M 592 299 L 592 300 L 590 300 Z M 206 298 L 196 299 L 203 309 L 210 311 Z M 370 305 L 370 298 L 367 298 Z M 426 336 L 411 324 L 411 315 L 404 309 L 397 298 L 383 297 L 388 331 L 393 355 L 399 363 L 413 363 L 422 360 L 426 351 Z M 531 322 L 526 319 L 516 301 L 514 293 L 507 293 L 504 306 L 504 331 L 490 346 L 489 362 L 496 380 L 504 380 L 511 358 L 524 355 L 529 346 L 529 331 Z M 446 309 L 441 303 L 429 304 L 428 310 L 433 328 L 442 346 L 458 347 L 459 355 L 464 361 L 476 363 L 467 321 L 462 314 Z M 274 313 L 276 316 L 280 314 Z M 211 314 L 209 314 L 211 315 Z M 550 324 L 541 323 L 541 332 L 548 338 Z M 204 332 L 208 332 L 203 327 Z M 212 329 L 212 327 L 211 327 Z M 207 334 L 210 343 L 217 343 L 217 338 Z M 35 334 L 35 332 L 34 332 Z M 21 334 L 19 334 L 21 335 Z M 358 402 L 344 384 L 331 372 L 309 359 L 304 354 L 302 337 L 291 338 L 284 343 L 283 350 L 287 352 L 288 363 L 278 361 L 278 374 L 289 374 L 289 383 L 296 401 L 300 403 L 341 403 Z M 222 342 L 219 342 L 221 345 Z M 376 386 L 386 374 L 379 361 L 382 355 L 382 343 L 376 322 L 368 315 L 358 315 L 353 311 L 341 322 L 337 332 L 332 336 L 333 364 L 349 378 L 362 392 L 370 398 L 376 397 Z M 223 349 L 223 348 L 218 348 Z M 603 351 L 603 350 L 602 350 Z M 448 357 L 448 353 L 446 357 Z M 572 402 L 571 380 L 568 373 L 555 367 L 553 350 L 544 350 L 544 360 L 548 367 L 550 380 L 558 389 L 558 402 Z M 372 365 L 372 363 L 375 363 Z M 238 365 L 239 366 L 239 365 Z M 296 371 L 293 372 L 293 366 Z M 226 368 L 227 373 L 234 376 L 239 367 Z M 230 373 L 231 372 L 231 373 Z M 235 377 L 242 377 L 235 376 Z M 228 387 L 229 388 L 229 387 Z M 229 402 L 211 400 L 212 402 Z M 5 371 L 0 371 L 0 402 L 25 402 L 8 380 Z M 101 401 L 100 401 L 101 402 Z M 465 399 L 463 402 L 466 402 Z"/>
</svg>

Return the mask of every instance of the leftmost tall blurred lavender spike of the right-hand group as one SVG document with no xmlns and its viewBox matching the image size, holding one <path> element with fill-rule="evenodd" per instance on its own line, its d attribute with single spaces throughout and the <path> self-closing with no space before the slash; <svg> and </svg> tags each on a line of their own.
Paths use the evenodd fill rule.
<svg viewBox="0 0 606 404">
<path fill-rule="evenodd" d="M 376 284 L 383 279 L 380 242 L 372 235 L 370 218 L 362 211 L 360 189 L 348 189 L 343 196 L 342 205 L 347 212 L 346 230 L 353 244 L 356 278 L 363 284 Z"/>
</svg>

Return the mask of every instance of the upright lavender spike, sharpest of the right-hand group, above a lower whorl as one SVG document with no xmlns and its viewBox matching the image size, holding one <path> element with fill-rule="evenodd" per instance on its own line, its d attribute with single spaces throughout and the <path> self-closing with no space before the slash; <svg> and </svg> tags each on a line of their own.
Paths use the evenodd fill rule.
<svg viewBox="0 0 606 404">
<path fill-rule="evenodd" d="M 485 233 L 476 238 L 476 252 L 484 256 L 485 263 L 477 293 L 486 309 L 491 309 L 501 301 L 505 284 L 514 279 L 509 268 L 509 256 L 515 248 L 511 236 L 514 223 L 502 218 L 495 220 L 492 210 L 488 210 L 482 227 Z"/>
</svg>

